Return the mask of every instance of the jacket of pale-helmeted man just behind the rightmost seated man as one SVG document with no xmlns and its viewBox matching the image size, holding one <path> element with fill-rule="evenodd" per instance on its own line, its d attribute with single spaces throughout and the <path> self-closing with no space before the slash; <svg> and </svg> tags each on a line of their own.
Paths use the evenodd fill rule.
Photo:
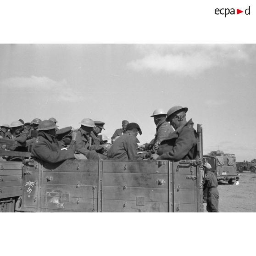
<svg viewBox="0 0 256 256">
<path fill-rule="evenodd" d="M 155 139 L 153 142 L 153 147 L 150 150 L 152 154 L 156 154 L 160 143 L 167 139 L 168 136 L 173 133 L 174 130 L 172 128 L 172 126 L 170 125 L 170 123 L 166 122 L 165 120 L 162 120 L 161 122 L 159 122 L 157 124 L 156 127 L 156 134 L 155 134 Z"/>
</svg>

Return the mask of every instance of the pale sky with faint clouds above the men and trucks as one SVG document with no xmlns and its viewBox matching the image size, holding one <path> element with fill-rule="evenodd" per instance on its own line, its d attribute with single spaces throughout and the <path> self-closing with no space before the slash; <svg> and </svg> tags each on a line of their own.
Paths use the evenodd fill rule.
<svg viewBox="0 0 256 256">
<path fill-rule="evenodd" d="M 203 153 L 256 158 L 256 45 L 1 44 L 0 122 L 55 117 L 59 128 L 83 118 L 122 120 L 154 138 L 156 108 L 188 107 L 203 127 Z"/>
</svg>

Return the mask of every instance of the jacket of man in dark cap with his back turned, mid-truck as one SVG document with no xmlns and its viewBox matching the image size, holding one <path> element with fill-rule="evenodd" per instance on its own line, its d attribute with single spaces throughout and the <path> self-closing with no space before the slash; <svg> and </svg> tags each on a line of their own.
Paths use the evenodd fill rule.
<svg viewBox="0 0 256 256">
<path fill-rule="evenodd" d="M 107 156 L 124 161 L 136 160 L 139 157 L 137 154 L 137 141 L 136 136 L 132 135 L 130 131 L 126 131 L 114 142 Z"/>
</svg>

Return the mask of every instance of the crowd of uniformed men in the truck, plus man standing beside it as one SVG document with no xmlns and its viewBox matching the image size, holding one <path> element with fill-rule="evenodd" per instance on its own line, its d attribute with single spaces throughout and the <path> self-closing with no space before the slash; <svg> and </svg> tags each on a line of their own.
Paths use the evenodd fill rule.
<svg viewBox="0 0 256 256">
<path fill-rule="evenodd" d="M 11 122 L 10 126 L 3 124 L 0 136 L 17 141 L 19 150 L 31 146 L 32 157 L 50 163 L 67 159 L 196 159 L 198 138 L 192 119 L 186 120 L 187 111 L 188 108 L 182 106 L 173 106 L 167 113 L 163 109 L 156 109 L 151 115 L 156 124 L 155 138 L 141 146 L 138 146 L 137 139 L 137 135 L 142 134 L 139 124 L 127 120 L 123 120 L 122 128 L 114 132 L 112 144 L 107 142 L 105 135 L 100 135 L 105 129 L 105 122 L 90 118 L 83 118 L 79 122 L 80 128 L 76 130 L 71 126 L 58 129 L 55 118 L 44 121 L 35 118 L 30 123 L 24 123 L 20 119 Z M 208 191 L 211 191 L 216 185 L 216 177 L 207 174 L 207 178 Z M 210 202 L 207 211 L 218 211 L 216 201 L 214 204 L 211 207 Z"/>
</svg>

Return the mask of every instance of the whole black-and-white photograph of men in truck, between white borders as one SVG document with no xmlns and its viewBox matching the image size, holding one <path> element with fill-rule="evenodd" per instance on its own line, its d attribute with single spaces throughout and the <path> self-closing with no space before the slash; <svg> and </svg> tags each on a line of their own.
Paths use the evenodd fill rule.
<svg viewBox="0 0 256 256">
<path fill-rule="evenodd" d="M 255 66 L 253 44 L 0 45 L 1 211 L 255 212 Z"/>
</svg>

